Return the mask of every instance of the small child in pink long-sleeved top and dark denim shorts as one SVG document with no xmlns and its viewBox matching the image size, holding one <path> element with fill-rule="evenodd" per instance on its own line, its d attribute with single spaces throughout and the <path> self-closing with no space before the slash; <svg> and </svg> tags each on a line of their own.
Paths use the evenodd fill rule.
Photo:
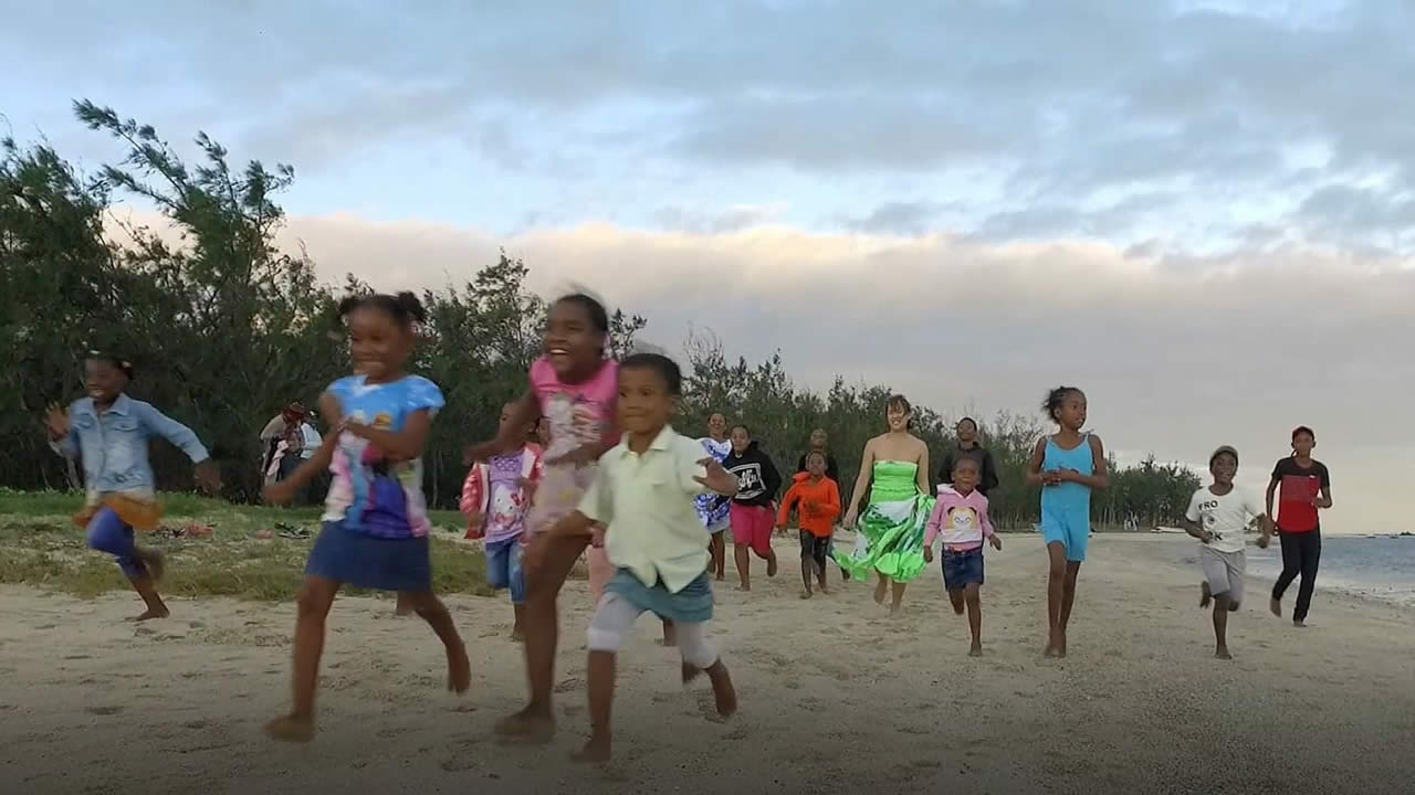
<svg viewBox="0 0 1415 795">
<path fill-rule="evenodd" d="M 988 539 L 992 547 L 1002 550 L 1002 539 L 992 529 L 988 518 L 988 498 L 978 488 L 982 467 L 976 458 L 957 458 L 948 480 L 951 487 L 938 489 L 938 502 L 928 515 L 928 532 L 924 536 L 924 562 L 934 562 L 934 539 L 944 536 L 944 588 L 954 613 L 964 614 L 968 608 L 968 629 L 972 632 L 972 646 L 968 656 L 982 656 L 982 542 Z"/>
</svg>

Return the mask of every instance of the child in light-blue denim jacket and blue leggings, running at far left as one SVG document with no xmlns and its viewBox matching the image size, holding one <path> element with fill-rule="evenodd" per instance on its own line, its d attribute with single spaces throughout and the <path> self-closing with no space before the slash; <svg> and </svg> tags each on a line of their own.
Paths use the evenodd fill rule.
<svg viewBox="0 0 1415 795">
<path fill-rule="evenodd" d="M 117 559 L 147 605 L 133 621 L 147 621 L 170 614 L 157 594 L 163 555 L 133 542 L 134 528 L 151 530 L 161 516 L 157 484 L 147 463 L 147 440 L 161 436 L 180 447 L 197 465 L 197 485 L 211 494 L 221 491 L 221 472 L 191 429 L 125 393 L 132 378 L 133 366 L 127 361 L 89 352 L 83 362 L 88 398 L 79 398 L 67 412 L 50 406 L 44 424 L 57 453 L 83 460 L 88 497 L 74 523 L 86 529 L 85 540 L 92 549 Z"/>
</svg>

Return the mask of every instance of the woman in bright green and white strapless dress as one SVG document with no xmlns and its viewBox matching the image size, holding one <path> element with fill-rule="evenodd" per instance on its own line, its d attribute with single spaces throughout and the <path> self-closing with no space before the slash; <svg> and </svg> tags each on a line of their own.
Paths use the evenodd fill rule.
<svg viewBox="0 0 1415 795">
<path fill-rule="evenodd" d="M 903 395 L 890 398 L 886 416 L 890 430 L 865 446 L 845 525 L 855 526 L 855 550 L 835 553 L 852 579 L 879 576 L 874 601 L 883 604 L 893 584 L 890 614 L 900 611 L 904 586 L 924 570 L 924 525 L 934 509 L 928 488 L 928 447 L 908 433 L 913 409 Z M 873 480 L 872 480 L 873 478 Z M 870 501 L 859 512 L 869 485 Z M 857 521 L 856 521 L 857 519 Z"/>
</svg>

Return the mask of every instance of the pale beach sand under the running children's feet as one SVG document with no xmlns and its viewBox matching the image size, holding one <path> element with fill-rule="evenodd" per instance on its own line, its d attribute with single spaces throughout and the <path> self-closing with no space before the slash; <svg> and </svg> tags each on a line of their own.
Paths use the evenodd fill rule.
<svg viewBox="0 0 1415 795">
<path fill-rule="evenodd" d="M 839 543 L 849 543 L 842 539 Z M 560 736 L 502 745 L 495 717 L 525 692 L 509 607 L 453 598 L 473 690 L 443 689 L 441 649 L 392 601 L 341 600 L 330 618 L 310 745 L 267 741 L 287 709 L 293 605 L 0 591 L 4 792 L 1409 792 L 1415 632 L 1398 607 L 1317 591 L 1312 627 L 1266 613 L 1251 583 L 1232 662 L 1213 659 L 1183 538 L 1102 535 L 1082 567 L 1070 658 L 1041 658 L 1044 553 L 989 552 L 986 656 L 937 569 L 887 620 L 855 583 L 802 601 L 794 543 L 756 590 L 717 590 L 715 635 L 741 713 L 713 721 L 706 682 L 683 690 L 645 618 L 620 656 L 617 758 L 583 741 L 584 583 L 562 596 Z M 838 581 L 838 570 L 831 576 Z M 1293 594 L 1295 596 L 1295 594 Z M 1292 597 L 1289 597 L 1290 601 Z"/>
</svg>

